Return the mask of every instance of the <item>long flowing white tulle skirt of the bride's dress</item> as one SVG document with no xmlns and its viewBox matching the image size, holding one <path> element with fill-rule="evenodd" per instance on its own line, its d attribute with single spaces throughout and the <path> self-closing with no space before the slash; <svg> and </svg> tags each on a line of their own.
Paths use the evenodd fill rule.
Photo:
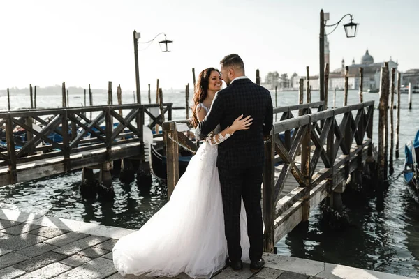
<svg viewBox="0 0 419 279">
<path fill-rule="evenodd" d="M 206 142 L 177 183 L 170 202 L 137 232 L 113 248 L 115 268 L 125 274 L 210 278 L 228 257 L 217 146 Z M 249 262 L 246 213 L 240 213 L 242 260 Z"/>
</svg>

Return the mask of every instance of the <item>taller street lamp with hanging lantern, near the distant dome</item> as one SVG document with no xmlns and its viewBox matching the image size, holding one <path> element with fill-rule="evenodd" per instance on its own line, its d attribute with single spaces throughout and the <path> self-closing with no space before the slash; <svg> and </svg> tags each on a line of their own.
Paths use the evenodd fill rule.
<svg viewBox="0 0 419 279">
<path fill-rule="evenodd" d="M 346 14 L 344 15 L 339 22 L 336 22 L 335 24 L 326 24 L 326 21 L 329 20 L 329 13 L 323 12 L 323 9 L 320 12 L 320 74 L 319 74 L 319 82 L 320 82 L 320 100 L 325 100 L 325 27 L 335 27 L 330 33 L 326 35 L 330 35 L 333 33 L 336 28 L 338 27 L 339 23 L 346 17 L 351 17 L 351 22 L 344 24 L 344 29 L 346 33 L 347 38 L 353 38 L 356 36 L 356 33 L 358 31 L 358 23 L 352 22 L 352 15 Z M 325 104 L 327 106 L 327 104 Z"/>
</svg>

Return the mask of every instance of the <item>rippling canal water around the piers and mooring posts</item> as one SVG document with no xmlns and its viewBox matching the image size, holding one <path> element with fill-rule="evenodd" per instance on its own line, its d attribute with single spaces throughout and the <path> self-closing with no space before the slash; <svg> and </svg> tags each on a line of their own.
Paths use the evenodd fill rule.
<svg viewBox="0 0 419 279">
<path fill-rule="evenodd" d="M 43 95 L 37 92 L 38 107 L 58 107 L 61 95 Z M 184 106 L 184 92 L 165 91 L 165 102 Z M 365 101 L 375 100 L 377 93 L 365 93 Z M 73 97 L 73 98 L 72 98 Z M 105 93 L 94 95 L 95 105 L 107 103 Z M 114 96 L 116 100 L 116 96 Z M 152 98 L 154 99 L 154 98 Z M 82 94 L 70 97 L 70 104 L 81 103 Z M 275 103 L 275 94 L 272 92 Z M 279 91 L 277 105 L 297 104 L 296 91 Z M 319 100 L 313 91 L 311 100 Z M 388 273 L 419 278 L 419 205 L 413 200 L 404 184 L 404 144 L 413 140 L 419 129 L 419 96 L 413 95 L 413 110 L 408 110 L 407 95 L 402 94 L 400 154 L 395 160 L 395 174 L 383 198 L 374 191 L 355 199 L 344 199 L 344 213 L 350 226 L 344 230 L 332 230 L 321 223 L 321 211 L 311 212 L 308 225 L 298 227 L 277 243 L 280 255 L 314 259 L 335 264 L 355 266 Z M 133 97 L 123 96 L 123 103 L 132 103 Z M 343 91 L 337 91 L 336 105 L 341 106 Z M 358 92 L 349 91 L 348 104 L 358 102 Z M 29 107 L 29 97 L 12 96 L 12 108 Z M 147 96 L 142 103 L 148 103 Z M 0 110 L 6 110 L 6 97 L 0 97 Z M 333 104 L 333 93 L 329 106 Z M 184 110 L 173 112 L 173 118 L 184 119 Z M 396 115 L 396 112 L 395 112 Z M 378 110 L 374 111 L 374 138 L 377 142 Z M 124 184 L 117 177 L 112 179 L 115 199 L 105 202 L 98 199 L 84 200 L 78 192 L 81 172 L 71 172 L 14 186 L 0 188 L 0 207 L 19 211 L 56 216 L 84 222 L 98 223 L 129 229 L 138 229 L 166 203 L 166 183 L 153 178 L 150 185 L 138 185 L 136 181 Z M 368 185 L 365 185 L 368 187 Z M 353 197 L 353 196 L 352 196 Z"/>
</svg>

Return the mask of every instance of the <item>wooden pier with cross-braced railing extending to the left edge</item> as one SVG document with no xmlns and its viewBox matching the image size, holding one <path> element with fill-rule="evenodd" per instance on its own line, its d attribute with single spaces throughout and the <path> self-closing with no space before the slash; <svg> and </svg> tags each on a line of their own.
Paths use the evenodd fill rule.
<svg viewBox="0 0 419 279">
<path fill-rule="evenodd" d="M 151 112 L 153 107 L 160 107 L 158 116 Z M 6 137 L 7 142 L 7 150 L 0 153 L 0 186 L 75 169 L 100 169 L 99 180 L 110 183 L 112 161 L 131 158 L 140 165 L 145 161 L 145 116 L 151 119 L 147 127 L 152 129 L 162 125 L 162 114 L 172 119 L 172 103 L 0 112 L 0 127 L 6 127 L 0 137 Z M 32 125 L 34 121 L 38 129 Z M 24 129 L 26 141 L 15 137 L 16 127 Z M 62 140 L 50 138 L 52 133 Z"/>
</svg>

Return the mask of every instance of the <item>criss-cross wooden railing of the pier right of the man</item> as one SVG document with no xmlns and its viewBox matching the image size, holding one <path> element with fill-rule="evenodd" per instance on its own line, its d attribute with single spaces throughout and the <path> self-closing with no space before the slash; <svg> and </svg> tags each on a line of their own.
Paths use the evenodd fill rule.
<svg viewBox="0 0 419 279">
<path fill-rule="evenodd" d="M 274 123 L 265 145 L 263 172 L 266 252 L 272 252 L 274 243 L 301 220 L 308 220 L 310 201 L 318 204 L 351 172 L 362 167 L 365 156 L 372 156 L 373 113 L 372 101 Z M 287 146 L 278 135 L 293 129 L 295 132 Z M 275 152 L 284 161 L 277 179 L 274 176 Z M 319 162 L 324 166 L 318 168 Z M 279 200 L 290 173 L 300 187 Z"/>
</svg>

